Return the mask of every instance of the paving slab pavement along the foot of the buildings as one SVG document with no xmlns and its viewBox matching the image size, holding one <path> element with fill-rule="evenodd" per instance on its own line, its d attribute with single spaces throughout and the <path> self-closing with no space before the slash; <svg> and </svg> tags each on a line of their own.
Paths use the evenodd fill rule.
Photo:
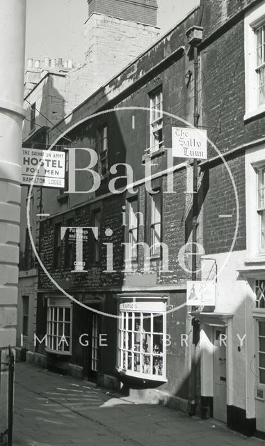
<svg viewBox="0 0 265 446">
<path fill-rule="evenodd" d="M 214 420 L 17 363 L 13 446 L 265 446 Z"/>
</svg>

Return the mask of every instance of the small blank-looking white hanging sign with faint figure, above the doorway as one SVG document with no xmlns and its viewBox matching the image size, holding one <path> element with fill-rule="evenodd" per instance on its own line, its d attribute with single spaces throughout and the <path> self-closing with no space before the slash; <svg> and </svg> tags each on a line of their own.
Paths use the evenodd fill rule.
<svg viewBox="0 0 265 446">
<path fill-rule="evenodd" d="M 191 307 L 214 307 L 216 305 L 216 282 L 188 280 L 186 304 Z"/>
</svg>

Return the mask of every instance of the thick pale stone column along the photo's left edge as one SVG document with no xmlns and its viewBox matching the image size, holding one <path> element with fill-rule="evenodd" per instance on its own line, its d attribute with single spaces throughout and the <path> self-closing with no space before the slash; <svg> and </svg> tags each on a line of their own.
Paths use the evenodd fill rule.
<svg viewBox="0 0 265 446">
<path fill-rule="evenodd" d="M 15 346 L 26 0 L 0 1 L 0 348 Z"/>
</svg>

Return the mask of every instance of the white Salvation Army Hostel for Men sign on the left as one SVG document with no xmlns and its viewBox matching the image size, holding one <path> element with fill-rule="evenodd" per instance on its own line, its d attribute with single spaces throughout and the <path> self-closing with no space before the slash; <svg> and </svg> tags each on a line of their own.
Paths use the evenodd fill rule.
<svg viewBox="0 0 265 446">
<path fill-rule="evenodd" d="M 35 178 L 34 178 L 35 175 Z M 65 153 L 22 149 L 22 185 L 65 187 Z"/>
</svg>

